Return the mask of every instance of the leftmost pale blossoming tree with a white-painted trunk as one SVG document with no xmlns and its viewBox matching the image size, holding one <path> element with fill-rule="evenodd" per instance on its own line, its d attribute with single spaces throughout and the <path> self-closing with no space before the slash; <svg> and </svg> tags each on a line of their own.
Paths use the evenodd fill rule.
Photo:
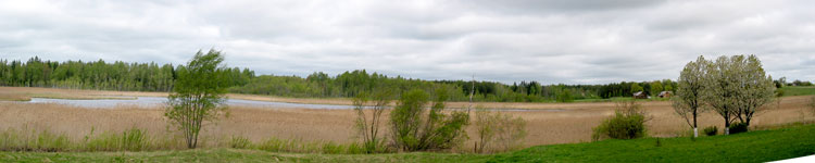
<svg viewBox="0 0 815 163">
<path fill-rule="evenodd" d="M 676 96 L 670 99 L 674 111 L 693 128 L 693 137 L 699 137 L 697 117 L 705 111 L 702 92 L 705 89 L 704 77 L 707 65 L 707 60 L 701 55 L 695 62 L 691 61 L 686 64 L 685 70 L 679 74 Z"/>
</svg>

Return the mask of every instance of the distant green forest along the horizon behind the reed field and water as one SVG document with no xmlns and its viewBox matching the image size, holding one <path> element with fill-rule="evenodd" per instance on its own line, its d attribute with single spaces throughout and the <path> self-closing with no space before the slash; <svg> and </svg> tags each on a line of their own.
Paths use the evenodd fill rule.
<svg viewBox="0 0 815 163">
<path fill-rule="evenodd" d="M 127 63 L 122 61 L 43 61 L 32 58 L 26 62 L 0 60 L 0 86 L 49 87 L 68 89 L 170 91 L 176 78 L 175 70 L 183 65 Z M 230 78 L 229 92 L 269 95 L 297 98 L 349 98 L 360 92 L 389 90 L 393 95 L 411 89 L 447 91 L 450 100 L 466 101 L 475 88 L 475 101 L 496 102 L 567 102 L 580 99 L 630 97 L 631 92 L 649 95 L 676 88 L 670 79 L 654 82 L 623 82 L 605 85 L 541 85 L 521 82 L 512 85 L 496 82 L 423 80 L 389 77 L 365 70 L 350 71 L 336 76 L 317 72 L 306 77 L 255 75 L 249 68 L 225 67 Z"/>
</svg>

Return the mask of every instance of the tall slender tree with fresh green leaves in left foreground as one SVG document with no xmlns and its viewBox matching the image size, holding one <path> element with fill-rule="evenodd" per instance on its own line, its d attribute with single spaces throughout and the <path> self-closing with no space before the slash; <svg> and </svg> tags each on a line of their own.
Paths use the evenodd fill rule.
<svg viewBox="0 0 815 163">
<path fill-rule="evenodd" d="M 188 148 L 198 146 L 204 121 L 213 121 L 227 111 L 223 104 L 229 85 L 221 51 L 198 51 L 186 66 L 178 70 L 178 79 L 168 97 L 164 115 L 184 133 Z"/>
</svg>

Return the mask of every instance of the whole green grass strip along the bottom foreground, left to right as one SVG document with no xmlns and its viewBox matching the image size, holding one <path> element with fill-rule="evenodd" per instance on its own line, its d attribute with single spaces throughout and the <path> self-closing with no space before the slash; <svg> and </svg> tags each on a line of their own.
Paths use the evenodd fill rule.
<svg viewBox="0 0 815 163">
<path fill-rule="evenodd" d="M 0 152 L 0 162 L 765 162 L 815 154 L 815 125 L 730 136 L 604 140 L 499 154 L 299 154 L 239 149 L 151 152 Z"/>
</svg>

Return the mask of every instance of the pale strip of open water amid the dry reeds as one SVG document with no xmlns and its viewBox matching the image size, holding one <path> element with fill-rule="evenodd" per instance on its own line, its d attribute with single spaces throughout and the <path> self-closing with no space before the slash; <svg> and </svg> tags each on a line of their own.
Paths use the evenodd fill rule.
<svg viewBox="0 0 815 163">
<path fill-rule="evenodd" d="M 97 109 L 113 109 L 117 105 L 137 105 L 137 106 L 163 106 L 167 102 L 167 98 L 160 97 L 137 97 L 136 99 L 97 99 L 97 100 L 67 100 L 67 99 L 47 99 L 47 98 L 32 98 L 30 103 L 62 103 L 71 104 L 82 108 L 97 108 Z M 244 106 L 264 106 L 264 108 L 288 108 L 288 109 L 325 109 L 325 110 L 350 110 L 354 109 L 353 105 L 341 105 L 341 104 L 306 104 L 306 103 L 288 103 L 288 102 L 269 102 L 269 101 L 254 101 L 254 100 L 238 100 L 228 99 L 226 100 L 227 105 L 244 105 Z M 451 110 L 464 110 L 464 109 L 451 109 Z M 546 111 L 546 112 L 560 112 L 565 111 L 562 109 L 549 109 L 549 110 L 525 110 L 525 109 L 488 109 L 498 111 Z"/>
</svg>

